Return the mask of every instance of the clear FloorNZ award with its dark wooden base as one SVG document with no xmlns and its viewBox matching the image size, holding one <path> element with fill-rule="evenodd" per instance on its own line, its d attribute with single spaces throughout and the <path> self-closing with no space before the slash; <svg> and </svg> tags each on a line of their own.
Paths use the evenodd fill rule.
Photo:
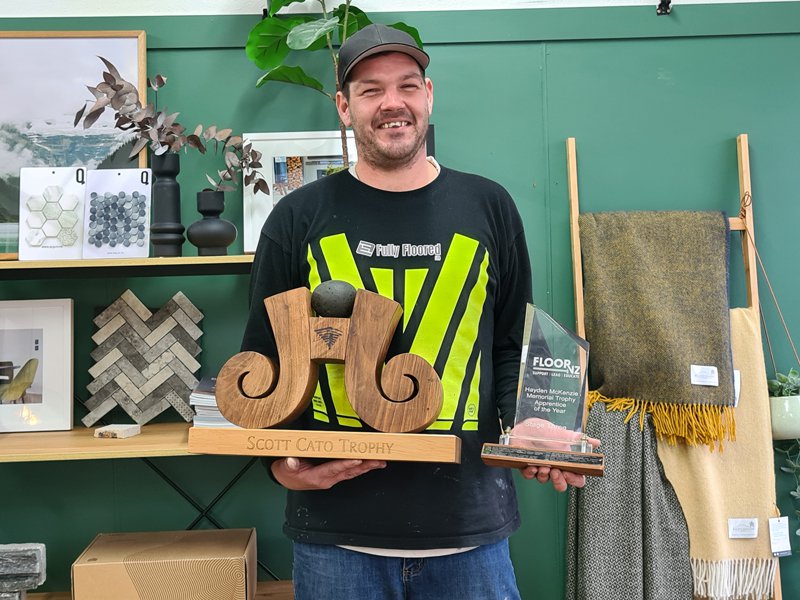
<svg viewBox="0 0 800 600">
<path fill-rule="evenodd" d="M 603 455 L 593 451 L 584 433 L 588 364 L 589 343 L 529 304 L 514 428 L 499 444 L 483 445 L 483 462 L 602 475 Z"/>
</svg>

